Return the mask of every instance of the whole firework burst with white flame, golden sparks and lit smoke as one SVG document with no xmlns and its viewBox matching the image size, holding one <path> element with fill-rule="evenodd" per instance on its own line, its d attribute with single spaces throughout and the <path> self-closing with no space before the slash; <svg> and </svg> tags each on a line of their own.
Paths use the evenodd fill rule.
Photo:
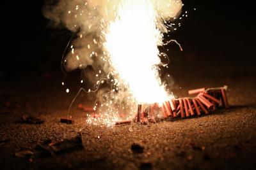
<svg viewBox="0 0 256 170">
<path fill-rule="evenodd" d="M 181 8 L 180 0 L 45 3 L 45 17 L 76 32 L 63 59 L 65 70 L 93 67 L 84 76 L 95 84 L 86 92 L 97 92 L 93 110 L 99 116 L 88 114 L 86 122 L 111 126 L 131 120 L 139 103 L 160 104 L 173 98 L 159 78 L 160 66 L 167 64 L 161 62 L 161 55 L 166 55 L 157 46 L 164 45 L 164 33 L 177 29 L 168 21 L 176 19 Z M 104 83 L 109 86 L 99 88 Z"/>
</svg>

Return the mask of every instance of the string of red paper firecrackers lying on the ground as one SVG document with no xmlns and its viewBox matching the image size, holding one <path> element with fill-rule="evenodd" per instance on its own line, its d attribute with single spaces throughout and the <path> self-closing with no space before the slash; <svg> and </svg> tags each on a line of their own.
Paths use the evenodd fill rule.
<svg viewBox="0 0 256 170">
<path fill-rule="evenodd" d="M 148 122 L 157 122 L 154 117 L 155 110 L 161 110 L 163 118 L 188 118 L 200 115 L 208 115 L 218 108 L 228 108 L 227 85 L 216 88 L 201 88 L 189 90 L 189 94 L 197 94 L 195 97 L 182 97 L 165 101 L 161 106 L 151 104 L 144 110 L 142 105 L 138 104 L 138 113 L 134 117 L 134 122 L 147 124 Z M 131 120 L 116 122 L 116 125 L 131 124 Z"/>
</svg>

